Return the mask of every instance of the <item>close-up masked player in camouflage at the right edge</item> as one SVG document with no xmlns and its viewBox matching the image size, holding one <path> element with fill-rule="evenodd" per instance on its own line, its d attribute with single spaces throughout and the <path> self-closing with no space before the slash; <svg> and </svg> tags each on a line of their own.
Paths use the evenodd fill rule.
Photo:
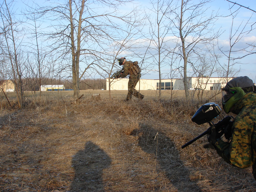
<svg viewBox="0 0 256 192">
<path fill-rule="evenodd" d="M 222 106 L 228 114 L 236 114 L 230 141 L 216 135 L 216 129 L 208 135 L 209 145 L 229 164 L 238 168 L 252 166 L 256 180 L 256 87 L 247 76 L 230 80 L 222 88 Z"/>
</svg>

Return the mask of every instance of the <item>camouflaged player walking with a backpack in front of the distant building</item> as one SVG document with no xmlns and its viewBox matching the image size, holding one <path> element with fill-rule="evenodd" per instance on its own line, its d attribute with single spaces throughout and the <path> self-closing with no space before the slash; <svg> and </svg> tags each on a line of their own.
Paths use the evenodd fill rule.
<svg viewBox="0 0 256 192">
<path fill-rule="evenodd" d="M 132 61 L 126 61 L 126 58 L 121 57 L 117 59 L 119 62 L 119 65 L 123 65 L 123 71 L 120 73 L 116 78 L 124 78 L 127 75 L 130 75 L 129 81 L 128 81 L 128 94 L 126 97 L 126 101 L 130 100 L 132 98 L 132 95 L 134 95 L 137 98 L 143 99 L 144 95 L 140 94 L 136 89 L 135 86 L 140 80 L 140 67 L 138 66 L 138 62 L 132 62 Z"/>
</svg>

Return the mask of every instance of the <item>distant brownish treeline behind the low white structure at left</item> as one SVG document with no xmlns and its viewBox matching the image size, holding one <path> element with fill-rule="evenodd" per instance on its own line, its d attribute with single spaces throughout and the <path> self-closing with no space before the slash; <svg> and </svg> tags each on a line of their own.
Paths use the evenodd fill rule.
<svg viewBox="0 0 256 192">
<path fill-rule="evenodd" d="M 27 78 L 22 80 L 25 91 L 39 91 L 40 82 L 38 78 Z M 73 89 L 72 79 L 42 79 L 41 85 L 64 85 L 65 89 Z M 104 89 L 106 90 L 105 79 L 84 79 L 80 81 L 80 90 Z"/>
</svg>

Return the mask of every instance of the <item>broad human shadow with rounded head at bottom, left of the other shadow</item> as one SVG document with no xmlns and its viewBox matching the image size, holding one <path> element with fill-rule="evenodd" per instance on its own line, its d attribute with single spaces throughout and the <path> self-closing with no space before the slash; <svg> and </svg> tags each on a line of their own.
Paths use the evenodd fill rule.
<svg viewBox="0 0 256 192">
<path fill-rule="evenodd" d="M 86 142 L 84 149 L 72 159 L 75 176 L 70 191 L 104 192 L 102 174 L 110 164 L 111 159 L 104 150 L 93 142 Z"/>
</svg>

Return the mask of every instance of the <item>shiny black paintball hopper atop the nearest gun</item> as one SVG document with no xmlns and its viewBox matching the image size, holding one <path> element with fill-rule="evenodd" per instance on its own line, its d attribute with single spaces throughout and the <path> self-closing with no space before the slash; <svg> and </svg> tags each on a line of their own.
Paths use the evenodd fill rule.
<svg viewBox="0 0 256 192">
<path fill-rule="evenodd" d="M 196 124 L 204 124 L 216 118 L 221 112 L 218 104 L 213 102 L 202 105 L 192 117 L 192 122 Z"/>
</svg>

